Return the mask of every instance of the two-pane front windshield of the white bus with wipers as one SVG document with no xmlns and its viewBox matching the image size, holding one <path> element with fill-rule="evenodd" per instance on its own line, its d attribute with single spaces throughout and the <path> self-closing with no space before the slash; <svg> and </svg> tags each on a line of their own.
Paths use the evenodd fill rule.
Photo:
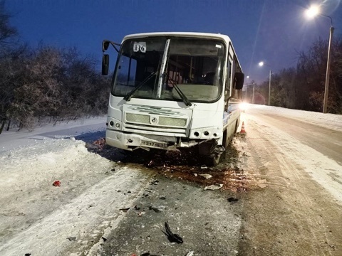
<svg viewBox="0 0 342 256">
<path fill-rule="evenodd" d="M 224 55 L 224 44 L 214 39 L 157 36 L 124 41 L 112 93 L 125 100 L 214 102 L 222 92 Z"/>
</svg>

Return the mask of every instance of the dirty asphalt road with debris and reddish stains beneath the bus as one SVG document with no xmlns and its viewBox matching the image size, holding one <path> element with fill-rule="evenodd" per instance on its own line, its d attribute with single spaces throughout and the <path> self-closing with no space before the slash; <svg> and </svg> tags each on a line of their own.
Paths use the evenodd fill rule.
<svg viewBox="0 0 342 256">
<path fill-rule="evenodd" d="M 191 155 L 178 164 L 174 155 L 110 156 L 154 177 L 88 255 L 342 255 L 341 131 L 267 107 L 242 120 L 247 132 L 217 168 Z M 204 190 L 215 183 L 223 187 Z"/>
</svg>

